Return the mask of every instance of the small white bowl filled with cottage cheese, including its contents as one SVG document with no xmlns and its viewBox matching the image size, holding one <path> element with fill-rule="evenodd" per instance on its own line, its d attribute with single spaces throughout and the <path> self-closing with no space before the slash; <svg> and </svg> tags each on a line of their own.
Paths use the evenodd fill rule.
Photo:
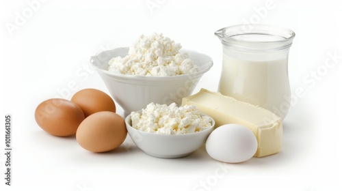
<svg viewBox="0 0 342 191">
<path fill-rule="evenodd" d="M 133 142 L 150 156 L 181 158 L 199 149 L 215 121 L 196 106 L 150 103 L 125 119 Z"/>
</svg>

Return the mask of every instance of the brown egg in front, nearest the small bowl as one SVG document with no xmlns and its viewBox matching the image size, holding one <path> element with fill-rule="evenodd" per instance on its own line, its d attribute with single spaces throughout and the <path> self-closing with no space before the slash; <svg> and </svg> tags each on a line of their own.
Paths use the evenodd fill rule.
<svg viewBox="0 0 342 191">
<path fill-rule="evenodd" d="M 84 119 L 76 132 L 76 140 L 83 149 L 92 152 L 111 151 L 119 147 L 127 136 L 126 123 L 120 115 L 100 111 Z"/>
</svg>

